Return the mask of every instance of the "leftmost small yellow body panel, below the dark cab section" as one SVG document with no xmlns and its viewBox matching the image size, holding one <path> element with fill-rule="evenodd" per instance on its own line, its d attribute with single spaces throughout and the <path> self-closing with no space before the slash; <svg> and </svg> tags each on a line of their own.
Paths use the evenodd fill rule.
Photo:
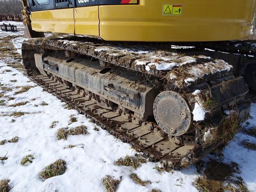
<svg viewBox="0 0 256 192">
<path fill-rule="evenodd" d="M 30 20 L 34 31 L 74 34 L 73 9 L 31 12 Z"/>
</svg>

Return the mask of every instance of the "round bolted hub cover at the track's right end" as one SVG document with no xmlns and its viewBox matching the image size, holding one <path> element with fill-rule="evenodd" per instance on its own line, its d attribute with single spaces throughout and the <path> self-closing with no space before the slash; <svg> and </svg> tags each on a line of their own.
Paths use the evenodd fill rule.
<svg viewBox="0 0 256 192">
<path fill-rule="evenodd" d="M 154 101 L 153 110 L 157 124 L 172 136 L 181 136 L 192 126 L 188 102 L 174 91 L 160 93 Z"/>
</svg>

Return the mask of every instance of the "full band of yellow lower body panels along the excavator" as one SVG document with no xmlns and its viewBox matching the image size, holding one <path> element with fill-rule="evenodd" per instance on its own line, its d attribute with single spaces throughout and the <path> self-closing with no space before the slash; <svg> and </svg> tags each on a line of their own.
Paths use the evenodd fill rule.
<svg viewBox="0 0 256 192">
<path fill-rule="evenodd" d="M 220 41 L 247 38 L 256 0 L 140 0 L 32 12 L 32 29 L 108 41 Z"/>
</svg>

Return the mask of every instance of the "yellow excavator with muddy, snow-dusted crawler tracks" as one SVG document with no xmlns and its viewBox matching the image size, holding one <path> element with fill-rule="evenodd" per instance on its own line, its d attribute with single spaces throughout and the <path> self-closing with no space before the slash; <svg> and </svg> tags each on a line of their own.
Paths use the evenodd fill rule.
<svg viewBox="0 0 256 192">
<path fill-rule="evenodd" d="M 189 166 L 249 117 L 256 0 L 22 3 L 28 76 L 151 161 Z"/>
</svg>

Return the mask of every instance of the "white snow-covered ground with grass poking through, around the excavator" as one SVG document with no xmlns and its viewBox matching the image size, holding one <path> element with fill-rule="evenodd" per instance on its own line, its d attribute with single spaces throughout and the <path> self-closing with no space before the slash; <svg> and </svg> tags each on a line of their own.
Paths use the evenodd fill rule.
<svg viewBox="0 0 256 192">
<path fill-rule="evenodd" d="M 5 22 L 7 23 L 7 22 Z M 21 22 L 10 22 L 22 28 Z M 22 30 L 16 35 L 22 34 Z M 0 38 L 10 33 L 0 31 Z M 12 34 L 13 35 L 13 34 Z M 14 38 L 12 42 L 20 53 L 23 38 Z M 7 71 L 6 71 L 7 70 Z M 10 70 L 10 71 L 8 71 Z M 14 76 L 14 74 L 16 74 Z M 12 80 L 12 82 L 11 82 Z M 16 82 L 13 80 L 17 80 Z M 0 90 L 4 94 L 0 100 L 5 105 L 0 106 L 0 141 L 9 140 L 18 136 L 15 143 L 6 142 L 0 145 L 0 157 L 7 153 L 7 160 L 0 160 L 0 180 L 9 179 L 11 192 L 103 192 L 102 178 L 111 175 L 122 181 L 118 192 L 150 192 L 158 189 L 162 192 L 198 191 L 194 187 L 194 180 L 199 174 L 196 167 L 158 172 L 154 169 L 159 163 L 147 162 L 137 170 L 131 167 L 116 166 L 114 162 L 126 155 L 134 156 L 136 152 L 129 144 L 122 143 L 108 134 L 105 130 L 94 130 L 88 118 L 78 114 L 76 110 L 68 110 L 66 104 L 52 94 L 45 92 L 29 80 L 23 71 L 6 66 L 0 61 L 0 84 L 9 90 Z M 34 86 L 27 92 L 16 94 L 23 86 Z M 9 100 L 8 97 L 14 97 Z M 27 102 L 23 106 L 10 107 L 11 104 Z M 48 105 L 40 105 L 46 102 Z M 24 112 L 20 117 L 10 116 L 13 112 Z M 77 118 L 71 123 L 70 116 Z M 53 128 L 52 122 L 58 121 Z M 71 123 L 71 124 L 70 124 Z M 67 140 L 57 140 L 56 132 L 59 128 L 85 125 L 89 134 L 68 136 Z M 245 129 L 256 127 L 256 104 L 252 104 L 251 117 Z M 235 141 L 224 148 L 224 162 L 237 162 L 241 170 L 240 176 L 250 191 L 256 191 L 256 151 L 248 150 L 241 144 L 244 140 L 256 143 L 256 138 L 244 132 L 236 135 Z M 77 145 L 74 148 L 65 148 L 68 145 Z M 34 155 L 34 160 L 28 166 L 20 164 L 26 155 Z M 211 155 L 204 158 L 208 161 Z M 40 171 L 58 159 L 67 162 L 67 170 L 61 176 L 40 180 Z M 151 184 L 140 186 L 129 178 L 136 173 L 142 180 L 149 180 Z"/>
</svg>

